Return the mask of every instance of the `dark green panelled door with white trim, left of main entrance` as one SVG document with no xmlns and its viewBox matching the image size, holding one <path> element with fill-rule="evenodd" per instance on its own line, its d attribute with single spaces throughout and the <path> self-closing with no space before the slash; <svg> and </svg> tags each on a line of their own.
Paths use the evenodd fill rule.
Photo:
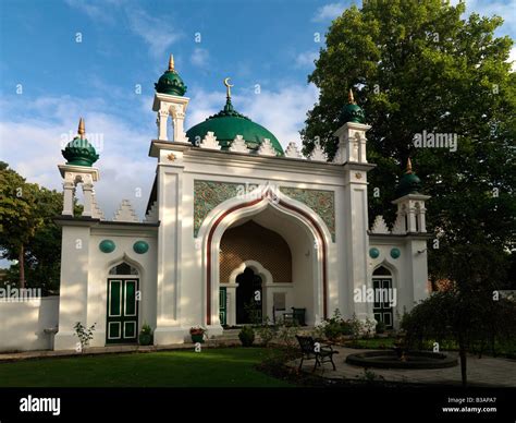
<svg viewBox="0 0 516 423">
<path fill-rule="evenodd" d="M 138 334 L 138 279 L 108 279 L 106 343 L 134 343 Z"/>
</svg>

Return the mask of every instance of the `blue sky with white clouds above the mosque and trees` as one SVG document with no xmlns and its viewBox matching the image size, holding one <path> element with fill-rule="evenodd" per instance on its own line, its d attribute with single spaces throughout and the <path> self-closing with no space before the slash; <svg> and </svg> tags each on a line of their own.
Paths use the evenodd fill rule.
<svg viewBox="0 0 516 423">
<path fill-rule="evenodd" d="M 332 19 L 352 3 L 2 0 L 0 158 L 29 181 L 61 190 L 63 140 L 83 116 L 87 133 L 101 140 L 101 208 L 111 218 L 128 198 L 143 217 L 156 167 L 147 156 L 156 137 L 153 83 L 169 53 L 192 98 L 186 128 L 222 107 L 222 78 L 231 76 L 237 110 L 283 145 L 299 142 L 318 96 L 307 75 Z M 467 8 L 502 15 L 500 34 L 515 37 L 515 0 L 467 1 Z"/>
</svg>

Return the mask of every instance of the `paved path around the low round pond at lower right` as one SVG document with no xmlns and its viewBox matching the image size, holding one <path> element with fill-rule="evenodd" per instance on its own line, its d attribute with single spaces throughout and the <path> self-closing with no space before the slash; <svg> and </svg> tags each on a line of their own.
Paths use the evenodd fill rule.
<svg viewBox="0 0 516 423">
<path fill-rule="evenodd" d="M 336 371 L 331 363 L 324 363 L 324 368 L 317 370 L 315 374 L 332 379 L 364 379 L 364 367 L 345 363 L 348 354 L 371 350 L 356 350 L 352 348 L 334 347 L 339 354 L 333 355 Z M 298 366 L 300 360 L 288 363 Z M 311 373 L 314 360 L 303 363 L 303 371 Z M 403 370 L 403 368 L 370 368 L 378 376 L 383 376 L 386 382 L 416 383 L 430 385 L 460 385 L 460 365 L 435 370 Z M 494 359 L 491 356 L 468 355 L 467 363 L 468 384 L 470 386 L 489 387 L 516 387 L 516 361 L 508 359 Z"/>
</svg>

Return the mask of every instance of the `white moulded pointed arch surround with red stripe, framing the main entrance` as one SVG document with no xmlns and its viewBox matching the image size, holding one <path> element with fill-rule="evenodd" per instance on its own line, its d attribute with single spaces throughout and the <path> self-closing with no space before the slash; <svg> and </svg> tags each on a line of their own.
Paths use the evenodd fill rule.
<svg viewBox="0 0 516 423">
<path fill-rule="evenodd" d="M 328 245 L 331 235 L 319 216 L 304 204 L 265 186 L 243 198 L 229 200 L 214 208 L 206 218 L 199 231 L 202 238 L 202 267 L 205 270 L 205 321 L 208 326 L 219 326 L 219 253 L 220 240 L 225 230 L 236 221 L 259 214 L 266 208 L 273 209 L 285 222 L 290 221 L 303 229 L 312 241 L 312 250 L 307 251 L 311 261 L 311 291 L 314 303 L 312 321 L 328 316 Z"/>
</svg>

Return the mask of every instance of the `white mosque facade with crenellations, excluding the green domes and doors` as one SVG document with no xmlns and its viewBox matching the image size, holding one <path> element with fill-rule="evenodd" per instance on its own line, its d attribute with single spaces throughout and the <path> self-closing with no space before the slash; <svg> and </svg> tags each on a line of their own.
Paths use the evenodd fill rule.
<svg viewBox="0 0 516 423">
<path fill-rule="evenodd" d="M 155 331 L 155 345 L 187 341 L 189 328 L 196 325 L 207 327 L 209 335 L 222 334 L 220 289 L 225 288 L 225 323 L 235 325 L 242 307 L 237 279 L 246 268 L 261 279 L 263 317 L 272 317 L 275 299 L 284 298 L 285 311 L 306 310 L 308 325 L 317 325 L 336 309 L 346 317 L 356 314 L 360 319 L 372 319 L 374 304 L 356 301 L 355 293 L 372 288 L 373 271 L 380 266 L 389 269 L 392 288 L 397 291 L 393 316 L 427 295 L 423 210 L 428 197 L 410 194 L 397 200 L 401 217 L 393 231 L 381 217 L 368 230 L 367 176 L 374 168 L 366 159 L 368 125 L 348 122 L 335 132 L 340 144 L 333 162 L 327 161 L 318 146 L 309 158 L 292 144 L 285 156 L 277 157 L 268 140 L 256 154 L 250 153 L 242 135 L 222 150 L 217 133 L 209 132 L 198 146 L 188 142 L 183 131 L 187 104 L 186 97 L 156 95 L 159 140 L 151 142 L 149 156 L 157 159 L 157 177 L 144 221 L 135 221 L 127 201 L 115 220 L 107 221 L 93 186 L 99 171 L 60 166 L 65 202 L 59 219 L 63 243 L 56 350 L 75 348 L 73 326 L 77 322 L 96 324 L 91 346 L 107 345 L 108 325 L 113 334 L 125 328 L 137 333 L 147 323 Z M 173 141 L 168 138 L 169 117 Z M 74 217 L 72 196 L 79 184 L 87 193 L 85 213 Z M 202 186 L 209 186 L 220 201 L 208 205 L 200 197 Z M 402 225 L 405 215 L 407 226 Z M 414 219 L 418 219 L 417 227 Z M 257 257 L 242 261 L 229 280 L 220 280 L 221 239 L 228 230 L 248 221 L 286 242 L 292 280 L 275 281 L 274 270 Z M 274 251 L 268 254 L 274 255 Z M 133 274 L 110 275 L 110 269 L 122 263 L 131 266 Z M 108 279 L 114 280 L 115 287 L 120 287 L 119 279 L 122 286 L 136 280 L 136 328 L 130 317 L 120 325 L 115 322 L 118 304 L 130 294 L 119 299 L 108 292 L 112 283 Z M 3 339 L 3 334 L 0 337 Z M 19 349 L 35 346 L 19 343 Z"/>
</svg>

